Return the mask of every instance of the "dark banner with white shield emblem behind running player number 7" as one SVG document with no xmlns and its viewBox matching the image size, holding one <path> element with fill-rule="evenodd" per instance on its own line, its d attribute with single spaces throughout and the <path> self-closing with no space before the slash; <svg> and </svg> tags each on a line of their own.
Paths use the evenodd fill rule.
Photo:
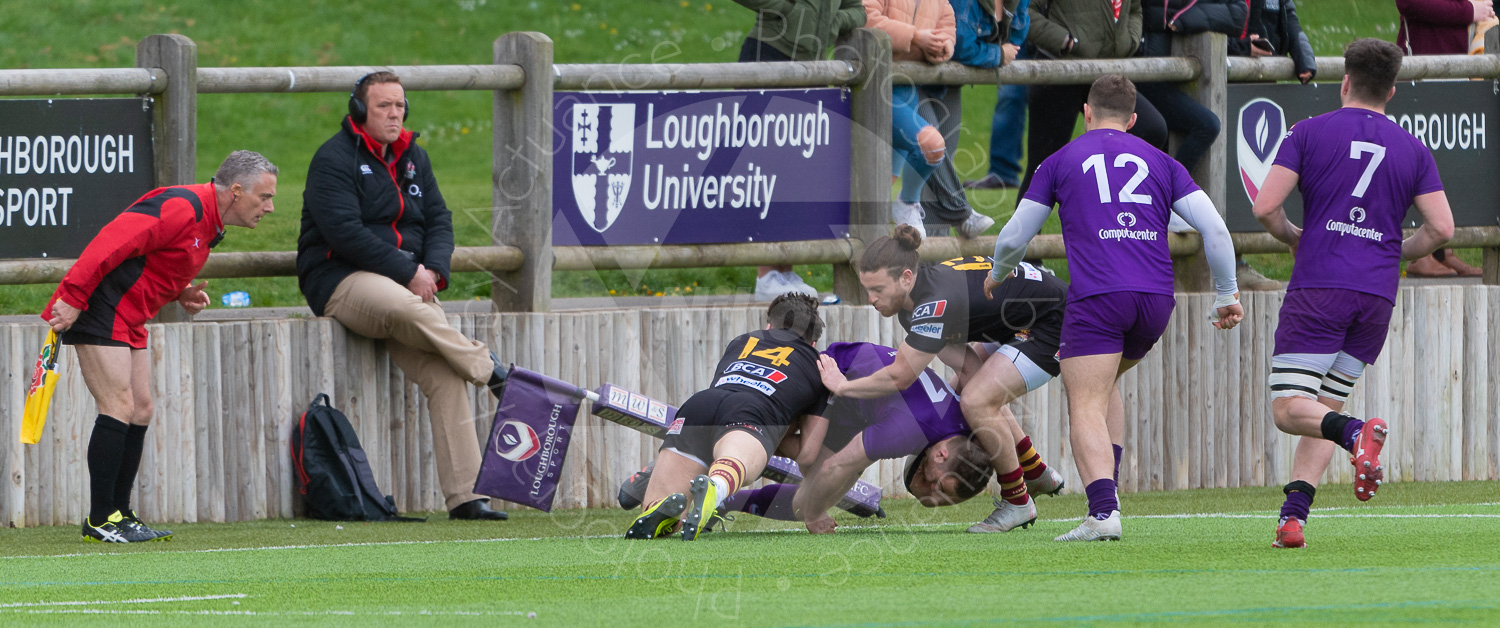
<svg viewBox="0 0 1500 628">
<path fill-rule="evenodd" d="M 1338 84 L 1232 84 L 1226 153 L 1230 231 L 1262 231 L 1250 208 L 1270 172 L 1276 148 L 1298 120 L 1340 108 Z M 1443 177 L 1443 189 L 1460 226 L 1500 220 L 1500 144 L 1490 147 L 1488 123 L 1500 123 L 1500 96 L 1492 81 L 1420 81 L 1396 84 L 1386 117 L 1426 144 Z M 1500 138 L 1497 138 L 1500 139 Z M 1302 222 L 1302 196 L 1293 193 L 1287 216 Z M 1414 226 L 1416 211 L 1407 213 Z"/>
</svg>

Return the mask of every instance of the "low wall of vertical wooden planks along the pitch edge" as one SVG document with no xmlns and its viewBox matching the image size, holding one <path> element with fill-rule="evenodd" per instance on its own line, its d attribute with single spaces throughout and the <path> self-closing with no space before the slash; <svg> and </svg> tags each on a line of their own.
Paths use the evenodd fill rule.
<svg viewBox="0 0 1500 628">
<path fill-rule="evenodd" d="M 1269 373 L 1280 292 L 1246 292 L 1246 321 L 1209 327 L 1212 301 L 1179 294 L 1155 351 L 1122 379 L 1122 490 L 1280 486 L 1293 439 L 1270 421 Z M 826 342 L 896 345 L 900 327 L 870 307 L 825 309 Z M 638 309 L 588 313 L 453 316 L 504 361 L 586 387 L 614 382 L 681 402 L 710 384 L 729 339 L 764 325 L 760 307 Z M 404 511 L 441 510 L 426 400 L 381 342 L 330 319 L 150 325 L 156 420 L 136 484 L 136 508 L 156 522 L 234 522 L 297 513 L 290 435 L 316 393 L 332 393 L 358 429 L 375 478 Z M 70 525 L 87 511 L 86 445 L 94 408 L 72 351 L 39 445 L 20 445 L 24 381 L 45 327 L 0 325 L 0 522 Z M 1500 478 L 1500 286 L 1404 288 L 1386 351 L 1350 403 L 1392 423 L 1394 481 Z M 482 442 L 495 405 L 471 390 Z M 1080 483 L 1068 453 L 1066 403 L 1053 381 L 1012 408 L 1047 463 Z M 558 508 L 610 507 L 620 481 L 651 459 L 656 442 L 579 417 Z M 866 480 L 900 490 L 902 462 Z M 1335 459 L 1328 481 L 1350 481 Z"/>
</svg>

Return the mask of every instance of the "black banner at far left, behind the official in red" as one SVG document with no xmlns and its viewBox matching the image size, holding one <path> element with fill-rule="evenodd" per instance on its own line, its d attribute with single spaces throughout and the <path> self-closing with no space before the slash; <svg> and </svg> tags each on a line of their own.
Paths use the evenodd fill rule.
<svg viewBox="0 0 1500 628">
<path fill-rule="evenodd" d="M 152 187 L 150 100 L 0 100 L 0 258 L 76 258 Z"/>
</svg>

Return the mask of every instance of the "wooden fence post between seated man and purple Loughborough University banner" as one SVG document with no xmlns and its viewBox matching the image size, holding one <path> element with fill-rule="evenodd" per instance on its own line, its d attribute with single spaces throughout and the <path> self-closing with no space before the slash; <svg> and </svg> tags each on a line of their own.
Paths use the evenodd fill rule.
<svg viewBox="0 0 1500 628">
<path fill-rule="evenodd" d="M 490 238 L 520 249 L 520 270 L 495 273 L 498 312 L 552 309 L 552 39 L 506 33 L 495 64 L 526 73 L 519 90 L 495 91 L 495 207 Z"/>
</svg>

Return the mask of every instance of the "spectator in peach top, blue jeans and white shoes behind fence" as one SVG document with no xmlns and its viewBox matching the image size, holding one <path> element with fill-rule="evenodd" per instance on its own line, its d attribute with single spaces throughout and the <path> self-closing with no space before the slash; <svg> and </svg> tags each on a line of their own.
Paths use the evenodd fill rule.
<svg viewBox="0 0 1500 628">
<path fill-rule="evenodd" d="M 891 36 L 896 61 L 942 63 L 954 55 L 954 15 L 948 0 L 864 0 L 866 25 Z M 902 192 L 891 202 L 891 220 L 924 229 L 922 186 L 932 187 L 934 217 L 972 238 L 994 225 L 974 211 L 963 195 L 942 132 L 933 126 L 924 100 L 940 100 L 944 85 L 891 85 L 891 157 L 902 175 Z M 945 229 L 946 231 L 946 229 Z"/>
</svg>

